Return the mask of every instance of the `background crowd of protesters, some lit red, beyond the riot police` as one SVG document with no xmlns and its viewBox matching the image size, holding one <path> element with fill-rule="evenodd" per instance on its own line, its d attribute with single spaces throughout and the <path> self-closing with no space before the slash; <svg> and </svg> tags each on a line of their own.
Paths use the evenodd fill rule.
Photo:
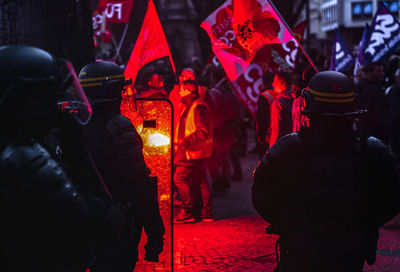
<svg viewBox="0 0 400 272">
<path fill-rule="evenodd" d="M 394 61 L 398 62 L 398 58 L 393 57 L 391 62 Z M 247 149 L 244 143 L 245 120 L 249 119 L 249 114 L 238 101 L 222 67 L 209 64 L 203 68 L 198 59 L 194 58 L 182 69 L 177 82 L 169 84 L 170 89 L 166 91 L 160 79 L 167 75 L 165 71 L 168 69 L 160 67 L 162 61 L 148 68 L 145 76 L 149 78 L 148 85 L 139 86 L 137 96 L 149 97 L 149 93 L 158 93 L 158 96 L 153 97 L 169 99 L 174 106 L 174 185 L 176 202 L 181 203 L 181 212 L 174 222 L 210 221 L 211 196 L 225 195 L 229 191 L 230 182 L 243 177 L 238 155 L 243 155 Z M 302 114 L 305 107 L 303 93 L 317 72 L 310 65 L 303 67 L 294 74 L 281 71 L 263 75 L 263 92 L 258 97 L 256 119 L 247 125 L 255 129 L 257 144 L 252 152 L 258 153 L 260 157 L 278 139 L 308 126 L 309 118 Z M 398 153 L 399 138 L 396 135 L 400 115 L 396 90 L 399 87 L 395 76 L 400 72 L 395 72 L 398 64 L 391 64 L 386 74 L 383 67 L 383 63 L 371 63 L 361 68 L 354 78 L 350 76 L 355 84 L 354 103 L 358 109 L 365 111 L 365 114 L 355 117 L 353 125 L 360 135 L 374 136 L 390 143 L 391 149 Z M 164 71 L 164 74 L 158 71 Z M 155 78 L 159 79 L 158 85 L 153 83 Z M 170 79 L 174 80 L 172 77 Z M 163 95 L 155 91 L 156 85 L 163 89 Z M 196 104 L 193 104 L 194 101 L 197 101 Z M 197 108 L 198 103 L 201 105 Z M 191 110 L 194 110 L 194 123 L 191 125 L 195 129 L 193 131 L 188 124 L 188 120 L 192 120 Z M 183 159 L 183 154 L 195 145 L 204 154 L 199 157 L 187 154 L 186 159 Z M 211 145 L 212 151 L 209 150 Z M 210 182 L 206 181 L 204 173 L 209 174 Z"/>
</svg>

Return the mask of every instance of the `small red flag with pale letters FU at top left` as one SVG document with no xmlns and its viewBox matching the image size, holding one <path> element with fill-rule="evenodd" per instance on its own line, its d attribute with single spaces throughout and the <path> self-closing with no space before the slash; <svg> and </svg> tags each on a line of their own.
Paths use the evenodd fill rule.
<svg viewBox="0 0 400 272">
<path fill-rule="evenodd" d="M 100 0 L 96 11 L 93 14 L 93 29 L 101 22 L 103 12 L 107 22 L 124 23 L 129 22 L 134 0 Z"/>
</svg>

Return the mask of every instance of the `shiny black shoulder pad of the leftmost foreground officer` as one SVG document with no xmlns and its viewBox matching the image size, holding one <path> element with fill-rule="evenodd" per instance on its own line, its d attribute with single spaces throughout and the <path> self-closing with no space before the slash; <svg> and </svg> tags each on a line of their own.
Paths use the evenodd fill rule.
<svg viewBox="0 0 400 272">
<path fill-rule="evenodd" d="M 43 166 L 50 154 L 38 143 L 10 144 L 1 154 L 1 168 L 6 171 L 23 173 Z"/>
</svg>

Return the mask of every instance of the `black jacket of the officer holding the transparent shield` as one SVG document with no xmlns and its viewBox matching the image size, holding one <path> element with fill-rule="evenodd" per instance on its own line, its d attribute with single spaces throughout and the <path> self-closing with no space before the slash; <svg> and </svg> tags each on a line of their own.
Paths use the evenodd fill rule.
<svg viewBox="0 0 400 272">
<path fill-rule="evenodd" d="M 143 158 L 142 140 L 131 122 L 120 114 L 118 102 L 94 104 L 93 110 L 93 117 L 83 130 L 84 143 L 114 201 L 129 205 L 135 225 L 144 227 L 148 236 L 146 249 L 160 253 L 165 229 Z"/>
</svg>

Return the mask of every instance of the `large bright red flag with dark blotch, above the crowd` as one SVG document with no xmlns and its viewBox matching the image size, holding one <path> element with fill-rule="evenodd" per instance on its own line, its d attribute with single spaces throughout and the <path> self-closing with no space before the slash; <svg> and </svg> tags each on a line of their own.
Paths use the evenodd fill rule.
<svg viewBox="0 0 400 272">
<path fill-rule="evenodd" d="M 228 78 L 236 80 L 266 44 L 282 44 L 293 35 L 267 0 L 228 0 L 201 27 Z"/>
</svg>

